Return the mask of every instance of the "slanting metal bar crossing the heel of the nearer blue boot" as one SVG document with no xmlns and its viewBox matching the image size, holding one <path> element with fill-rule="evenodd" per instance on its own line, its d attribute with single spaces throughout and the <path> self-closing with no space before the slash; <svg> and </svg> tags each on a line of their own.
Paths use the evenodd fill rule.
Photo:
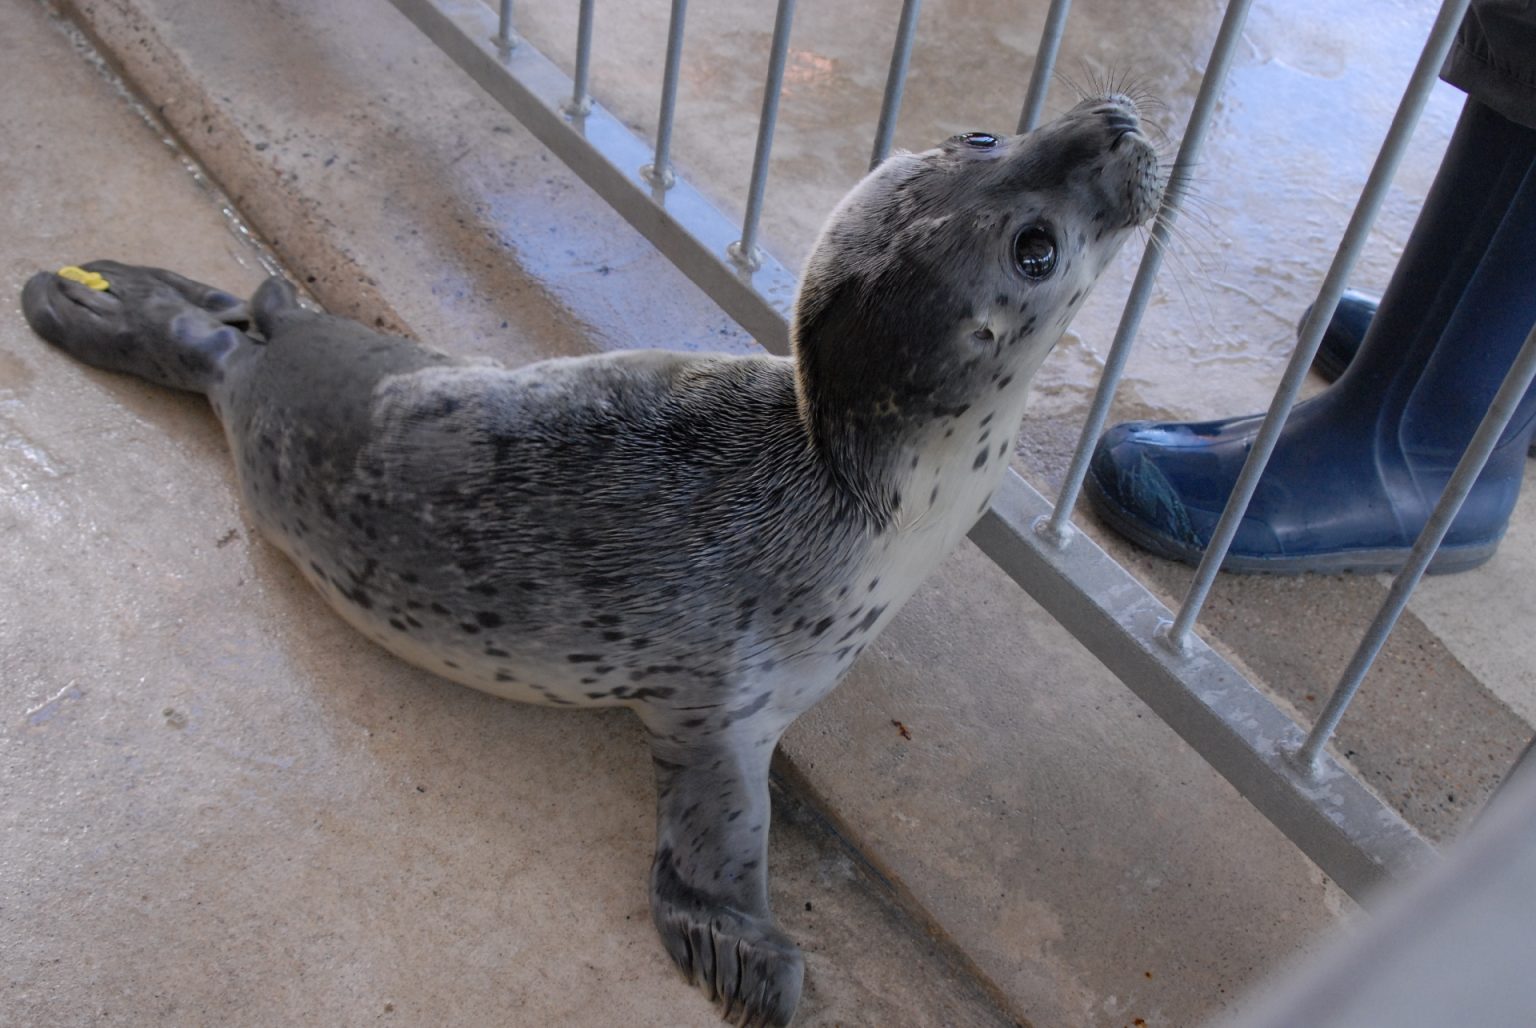
<svg viewBox="0 0 1536 1028">
<path fill-rule="evenodd" d="M 1296 762 L 1304 771 L 1310 773 L 1316 765 L 1322 744 L 1333 735 L 1339 718 L 1344 716 L 1350 701 L 1355 699 L 1355 693 L 1359 691 L 1359 684 L 1366 679 L 1366 672 L 1370 670 L 1370 664 L 1385 644 L 1387 635 L 1398 624 L 1402 609 L 1409 605 L 1413 587 L 1424 578 L 1424 569 L 1435 558 L 1435 550 L 1439 549 L 1441 539 L 1450 530 L 1450 522 L 1456 518 L 1462 501 L 1467 499 L 1467 493 L 1471 492 L 1473 484 L 1478 481 L 1482 466 L 1488 463 L 1488 455 L 1493 453 L 1499 436 L 1504 435 L 1510 418 L 1514 416 L 1514 407 L 1525 398 L 1525 390 L 1530 389 L 1533 378 L 1536 378 L 1536 327 L 1531 327 L 1530 335 L 1525 337 L 1525 344 L 1514 356 L 1514 363 L 1510 366 L 1508 375 L 1504 376 L 1499 392 L 1495 393 L 1493 403 L 1488 406 L 1488 413 L 1482 415 L 1478 432 L 1471 436 L 1467 452 L 1461 455 L 1461 461 L 1456 464 L 1456 470 L 1452 472 L 1450 481 L 1445 482 L 1445 492 L 1441 495 L 1439 502 L 1435 504 L 1435 512 L 1430 513 L 1424 532 L 1413 542 L 1407 565 L 1404 565 L 1398 578 L 1392 582 L 1387 601 L 1376 612 L 1376 619 L 1370 622 L 1366 638 L 1359 641 L 1359 648 L 1355 650 L 1349 667 L 1344 668 L 1338 688 L 1329 696 L 1327 707 L 1318 716 L 1318 722 L 1312 727 L 1307 741 L 1296 750 Z"/>
</svg>

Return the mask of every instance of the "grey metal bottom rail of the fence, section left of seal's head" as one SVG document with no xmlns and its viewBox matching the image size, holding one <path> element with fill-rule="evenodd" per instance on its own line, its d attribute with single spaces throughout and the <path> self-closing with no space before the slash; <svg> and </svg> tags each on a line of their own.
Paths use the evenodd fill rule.
<svg viewBox="0 0 1536 1028">
<path fill-rule="evenodd" d="M 737 267 L 727 255 L 737 224 L 687 181 L 665 191 L 647 181 L 641 167 L 651 148 L 644 140 L 599 103 L 571 120 L 562 111 L 571 80 L 525 41 L 502 58 L 493 41 L 496 12 L 484 3 L 390 2 L 763 349 L 790 352 L 794 275 L 766 254 L 754 270 Z"/>
</svg>

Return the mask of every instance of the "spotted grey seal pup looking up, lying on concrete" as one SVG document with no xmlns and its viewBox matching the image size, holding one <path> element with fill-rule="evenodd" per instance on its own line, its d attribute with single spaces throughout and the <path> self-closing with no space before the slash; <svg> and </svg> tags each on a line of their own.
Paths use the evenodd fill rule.
<svg viewBox="0 0 1536 1028">
<path fill-rule="evenodd" d="M 768 761 L 986 509 L 1031 375 L 1161 187 L 1135 104 L 895 154 L 805 269 L 793 358 L 504 369 L 160 269 L 34 275 L 32 327 L 204 393 L 249 515 L 398 656 L 510 699 L 633 710 L 651 911 L 740 1023 L 803 962 L 768 908 Z M 104 283 L 104 284 L 103 284 Z"/>
</svg>

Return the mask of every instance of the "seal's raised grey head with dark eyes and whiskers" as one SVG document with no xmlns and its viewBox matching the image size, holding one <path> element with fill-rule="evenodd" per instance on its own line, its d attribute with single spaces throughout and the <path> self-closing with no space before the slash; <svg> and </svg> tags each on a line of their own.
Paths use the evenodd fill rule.
<svg viewBox="0 0 1536 1028">
<path fill-rule="evenodd" d="M 1026 135 L 895 154 L 839 204 L 806 263 L 793 338 L 817 446 L 889 509 L 889 439 L 1028 381 L 1163 175 L 1132 100 Z M 886 484 L 889 489 L 889 484 Z"/>
</svg>

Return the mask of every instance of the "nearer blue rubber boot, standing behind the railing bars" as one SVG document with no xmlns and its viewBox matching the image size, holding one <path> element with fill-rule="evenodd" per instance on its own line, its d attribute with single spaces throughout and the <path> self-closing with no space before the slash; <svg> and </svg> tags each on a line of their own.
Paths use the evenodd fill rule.
<svg viewBox="0 0 1536 1028">
<path fill-rule="evenodd" d="M 1536 131 L 1468 100 L 1359 353 L 1292 412 L 1223 567 L 1399 569 L 1533 324 Z M 1087 498 L 1134 542 L 1198 562 L 1261 421 L 1115 426 Z M 1533 424 L 1528 395 L 1432 572 L 1493 555 Z"/>
</svg>

